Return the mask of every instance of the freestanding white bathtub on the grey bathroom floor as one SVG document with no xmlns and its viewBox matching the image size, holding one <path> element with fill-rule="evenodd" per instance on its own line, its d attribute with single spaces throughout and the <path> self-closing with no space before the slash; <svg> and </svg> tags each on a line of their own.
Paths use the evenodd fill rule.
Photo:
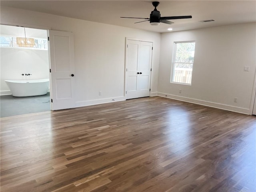
<svg viewBox="0 0 256 192">
<path fill-rule="evenodd" d="M 5 82 L 14 97 L 45 95 L 49 87 L 49 79 L 5 80 Z"/>
</svg>

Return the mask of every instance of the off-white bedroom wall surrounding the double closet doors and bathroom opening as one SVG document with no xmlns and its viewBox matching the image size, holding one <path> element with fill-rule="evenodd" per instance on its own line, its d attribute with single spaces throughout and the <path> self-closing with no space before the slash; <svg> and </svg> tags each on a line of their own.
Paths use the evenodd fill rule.
<svg viewBox="0 0 256 192">
<path fill-rule="evenodd" d="M 126 37 L 153 42 L 151 92 L 157 92 L 159 33 L 8 7 L 1 7 L 1 24 L 74 32 L 77 106 L 124 99 Z"/>
</svg>

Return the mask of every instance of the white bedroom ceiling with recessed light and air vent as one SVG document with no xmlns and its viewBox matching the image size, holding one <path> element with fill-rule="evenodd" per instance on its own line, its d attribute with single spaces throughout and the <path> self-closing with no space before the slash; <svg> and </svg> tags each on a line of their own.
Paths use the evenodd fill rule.
<svg viewBox="0 0 256 192">
<path fill-rule="evenodd" d="M 160 23 L 151 26 L 149 22 L 134 24 L 148 18 L 154 9 L 152 0 L 1 0 L 1 6 L 44 12 L 59 16 L 78 18 L 93 22 L 137 28 L 153 32 L 173 31 L 256 22 L 256 0 L 160 0 L 157 9 L 161 16 L 192 15 L 191 19 L 170 20 L 172 25 Z M 199 22 L 201 20 L 214 22 Z"/>
</svg>

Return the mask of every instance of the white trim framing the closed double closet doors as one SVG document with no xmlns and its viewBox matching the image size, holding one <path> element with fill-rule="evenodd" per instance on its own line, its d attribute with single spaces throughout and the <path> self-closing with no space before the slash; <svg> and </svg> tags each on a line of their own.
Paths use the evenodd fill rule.
<svg viewBox="0 0 256 192">
<path fill-rule="evenodd" d="M 127 99 L 127 96 L 126 96 L 126 90 L 127 90 L 127 68 L 128 68 L 128 61 L 127 61 L 127 45 L 128 45 L 128 40 L 134 40 L 134 41 L 141 41 L 141 42 L 150 42 L 152 43 L 152 47 L 154 46 L 154 42 L 152 42 L 152 40 L 143 40 L 143 39 L 138 39 L 138 38 L 130 38 L 130 37 L 126 37 L 126 40 L 125 40 L 125 68 L 124 68 L 124 98 L 125 100 Z M 152 55 L 151 55 L 151 66 L 150 68 L 152 69 L 152 62 L 153 62 L 153 52 L 152 52 Z M 152 72 L 151 72 L 151 75 L 150 75 L 150 89 L 151 89 L 151 84 L 152 84 Z"/>
</svg>

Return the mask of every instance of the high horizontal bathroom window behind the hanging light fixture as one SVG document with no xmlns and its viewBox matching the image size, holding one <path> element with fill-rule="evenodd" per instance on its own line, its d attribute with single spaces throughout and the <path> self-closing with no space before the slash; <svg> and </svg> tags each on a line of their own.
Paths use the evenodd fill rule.
<svg viewBox="0 0 256 192">
<path fill-rule="evenodd" d="M 1 35 L 0 36 L 0 47 L 20 48 L 17 45 L 16 37 L 17 36 Z M 33 47 L 28 47 L 28 48 L 48 50 L 48 41 L 47 41 L 47 39 L 34 38 L 34 40 L 35 40 L 35 45 Z"/>
</svg>

